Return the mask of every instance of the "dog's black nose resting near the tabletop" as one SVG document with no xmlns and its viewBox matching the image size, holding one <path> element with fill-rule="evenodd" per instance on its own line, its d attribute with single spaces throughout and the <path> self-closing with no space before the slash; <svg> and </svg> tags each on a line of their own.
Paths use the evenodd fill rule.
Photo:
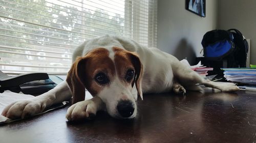
<svg viewBox="0 0 256 143">
<path fill-rule="evenodd" d="M 127 118 L 133 115 L 134 106 L 129 100 L 121 100 L 117 104 L 117 110 L 122 117 Z"/>
</svg>

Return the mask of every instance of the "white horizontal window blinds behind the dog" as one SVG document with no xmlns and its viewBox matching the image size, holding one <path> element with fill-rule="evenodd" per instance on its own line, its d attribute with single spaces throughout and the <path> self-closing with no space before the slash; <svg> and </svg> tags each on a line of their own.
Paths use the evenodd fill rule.
<svg viewBox="0 0 256 143">
<path fill-rule="evenodd" d="M 0 70 L 66 74 L 72 52 L 105 34 L 156 47 L 157 0 L 1 0 Z"/>
</svg>

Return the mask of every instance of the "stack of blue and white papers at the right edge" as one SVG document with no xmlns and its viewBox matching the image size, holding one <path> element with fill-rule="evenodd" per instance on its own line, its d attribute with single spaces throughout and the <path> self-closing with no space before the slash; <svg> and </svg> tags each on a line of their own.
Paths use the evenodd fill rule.
<svg viewBox="0 0 256 143">
<path fill-rule="evenodd" d="M 223 68 L 228 81 L 256 85 L 256 68 Z"/>
</svg>

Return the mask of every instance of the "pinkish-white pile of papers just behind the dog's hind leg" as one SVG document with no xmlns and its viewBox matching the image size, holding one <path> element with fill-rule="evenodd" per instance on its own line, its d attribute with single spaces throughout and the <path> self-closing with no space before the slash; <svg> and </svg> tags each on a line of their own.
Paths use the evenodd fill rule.
<svg viewBox="0 0 256 143">
<path fill-rule="evenodd" d="M 208 73 L 207 73 L 208 71 L 214 70 L 214 68 L 206 68 L 206 66 L 201 65 L 201 61 L 199 61 L 198 64 L 194 65 L 194 66 L 190 66 L 190 64 L 188 63 L 188 61 L 186 59 L 183 59 L 180 62 L 185 64 L 186 66 L 189 66 L 192 70 L 196 71 L 198 74 L 200 74 L 202 76 L 206 76 L 206 75 L 208 75 Z"/>
</svg>

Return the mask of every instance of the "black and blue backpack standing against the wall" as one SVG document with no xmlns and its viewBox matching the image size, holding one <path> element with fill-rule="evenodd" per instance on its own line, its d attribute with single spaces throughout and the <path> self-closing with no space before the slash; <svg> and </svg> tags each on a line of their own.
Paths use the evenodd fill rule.
<svg viewBox="0 0 256 143">
<path fill-rule="evenodd" d="M 209 31 L 203 37 L 202 46 L 207 60 L 226 60 L 228 68 L 246 67 L 248 43 L 236 29 Z"/>
</svg>

